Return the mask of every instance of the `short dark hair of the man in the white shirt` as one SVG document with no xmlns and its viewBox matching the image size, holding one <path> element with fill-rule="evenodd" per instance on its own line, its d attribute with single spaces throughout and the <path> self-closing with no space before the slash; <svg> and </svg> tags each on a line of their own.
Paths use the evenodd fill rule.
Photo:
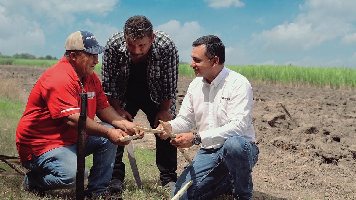
<svg viewBox="0 0 356 200">
<path fill-rule="evenodd" d="M 204 55 L 211 60 L 211 58 L 217 56 L 219 57 L 219 64 L 223 64 L 225 62 L 225 46 L 223 42 L 216 36 L 208 35 L 199 37 L 192 44 L 195 46 L 205 46 Z"/>
</svg>

